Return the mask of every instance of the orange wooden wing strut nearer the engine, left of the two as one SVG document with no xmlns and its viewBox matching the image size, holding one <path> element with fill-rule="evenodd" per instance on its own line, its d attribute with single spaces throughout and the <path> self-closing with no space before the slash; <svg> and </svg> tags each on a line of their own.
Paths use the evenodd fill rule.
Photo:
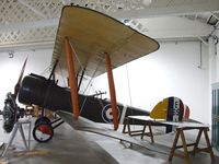
<svg viewBox="0 0 219 164">
<path fill-rule="evenodd" d="M 78 83 L 77 83 L 76 69 L 73 62 L 74 50 L 71 49 L 68 37 L 65 38 L 65 46 L 66 46 L 66 61 L 69 73 L 69 85 L 71 91 L 72 113 L 74 115 L 74 118 L 78 119 L 80 113 L 79 113 L 79 99 L 77 91 Z"/>
</svg>

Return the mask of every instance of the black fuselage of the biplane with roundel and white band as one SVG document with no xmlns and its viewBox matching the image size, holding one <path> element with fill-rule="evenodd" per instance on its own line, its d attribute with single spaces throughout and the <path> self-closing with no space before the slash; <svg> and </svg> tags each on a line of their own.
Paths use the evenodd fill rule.
<svg viewBox="0 0 219 164">
<path fill-rule="evenodd" d="M 95 96 L 78 94 L 80 115 L 96 122 L 112 122 L 111 102 Z M 53 112 L 65 110 L 72 113 L 71 94 L 68 87 L 61 87 L 53 81 L 36 74 L 26 75 L 19 91 L 19 102 L 37 105 Z M 117 103 L 118 119 L 130 115 L 149 115 L 148 112 Z M 138 124 L 138 122 L 135 122 Z"/>
</svg>

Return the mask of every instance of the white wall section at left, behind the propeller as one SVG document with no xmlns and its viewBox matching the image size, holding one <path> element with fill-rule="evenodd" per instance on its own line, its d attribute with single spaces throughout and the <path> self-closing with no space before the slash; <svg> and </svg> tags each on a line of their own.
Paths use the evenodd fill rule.
<svg viewBox="0 0 219 164">
<path fill-rule="evenodd" d="M 47 75 L 51 52 L 51 49 L 15 51 L 13 58 L 9 58 L 9 52 L 0 52 L 0 110 L 3 109 L 5 94 L 14 92 L 25 58 L 28 57 L 24 75 L 32 72 Z"/>
</svg>

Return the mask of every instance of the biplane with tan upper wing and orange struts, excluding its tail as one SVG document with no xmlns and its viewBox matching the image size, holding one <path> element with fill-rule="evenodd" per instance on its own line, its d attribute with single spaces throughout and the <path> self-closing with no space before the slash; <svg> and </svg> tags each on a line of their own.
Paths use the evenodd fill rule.
<svg viewBox="0 0 219 164">
<path fill-rule="evenodd" d="M 51 74 L 46 79 L 32 73 L 24 77 L 22 82 L 19 81 L 21 83 L 18 91 L 20 103 L 37 105 L 60 116 L 55 121 L 50 121 L 45 116 L 38 118 L 33 130 L 35 140 L 49 141 L 54 136 L 54 128 L 62 120 L 76 129 L 119 138 L 117 134 L 112 134 L 113 132 L 108 133 L 108 131 L 92 127 L 93 124 L 89 120 L 113 122 L 116 130 L 126 116 L 149 115 L 146 110 L 116 102 L 112 69 L 157 49 L 159 49 L 158 42 L 108 15 L 82 7 L 65 7 L 56 34 Z M 70 89 L 59 86 L 54 79 L 55 74 L 59 73 L 57 65 L 62 68 L 64 74 L 69 79 Z M 84 75 L 95 78 L 105 72 L 108 77 L 111 101 L 101 98 L 102 93 L 96 95 L 79 93 Z M 9 95 L 8 99 L 15 99 L 15 97 L 16 94 Z M 8 110 L 9 106 L 10 103 L 5 104 L 4 110 Z M 11 114 L 13 120 L 19 118 L 14 116 L 16 109 Z M 9 118 L 9 113 L 7 114 Z M 4 127 L 8 127 L 5 130 L 10 132 L 14 121 L 4 119 Z M 55 122 L 58 125 L 53 127 Z"/>
</svg>

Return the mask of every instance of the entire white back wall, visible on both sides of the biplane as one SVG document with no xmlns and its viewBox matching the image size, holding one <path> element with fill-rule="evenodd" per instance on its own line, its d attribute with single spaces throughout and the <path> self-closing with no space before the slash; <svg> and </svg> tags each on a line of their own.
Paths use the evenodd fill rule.
<svg viewBox="0 0 219 164">
<path fill-rule="evenodd" d="M 178 96 L 191 107 L 191 117 L 209 122 L 208 47 L 199 42 L 161 43 L 158 51 L 114 70 L 117 101 L 147 110 L 166 96 Z M 25 74 L 42 74 L 48 69 L 51 49 L 0 54 L 0 109 L 5 94 L 13 92 L 26 56 Z M 46 75 L 46 74 L 42 74 Z M 84 84 L 83 84 L 84 86 Z M 93 81 L 90 92 L 107 91 L 106 74 Z M 108 96 L 108 92 L 107 92 Z"/>
</svg>

